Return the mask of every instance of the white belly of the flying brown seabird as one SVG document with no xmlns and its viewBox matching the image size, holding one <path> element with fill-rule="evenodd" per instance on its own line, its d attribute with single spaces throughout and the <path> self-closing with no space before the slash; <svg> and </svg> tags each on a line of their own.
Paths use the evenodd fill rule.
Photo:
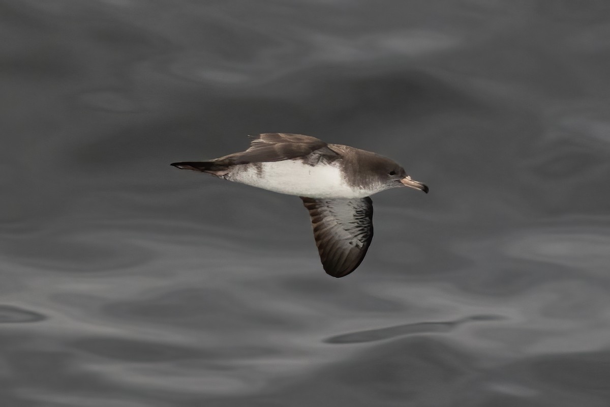
<svg viewBox="0 0 610 407">
<path fill-rule="evenodd" d="M 310 198 L 363 198 L 373 193 L 350 187 L 339 168 L 331 164 L 312 167 L 300 160 L 284 160 L 257 165 L 259 168 L 252 164 L 237 165 L 227 178 L 273 192 Z"/>
</svg>

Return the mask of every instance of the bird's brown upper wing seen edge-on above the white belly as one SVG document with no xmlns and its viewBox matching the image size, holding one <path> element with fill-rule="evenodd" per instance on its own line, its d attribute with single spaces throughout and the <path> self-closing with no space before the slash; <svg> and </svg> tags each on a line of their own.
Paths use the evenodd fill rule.
<svg viewBox="0 0 610 407">
<path fill-rule="evenodd" d="M 295 159 L 316 152 L 320 157 L 334 159 L 339 154 L 325 142 L 309 135 L 290 133 L 264 133 L 253 137 L 249 148 L 242 153 L 229 154 L 215 160 L 221 164 L 249 164 Z"/>
</svg>

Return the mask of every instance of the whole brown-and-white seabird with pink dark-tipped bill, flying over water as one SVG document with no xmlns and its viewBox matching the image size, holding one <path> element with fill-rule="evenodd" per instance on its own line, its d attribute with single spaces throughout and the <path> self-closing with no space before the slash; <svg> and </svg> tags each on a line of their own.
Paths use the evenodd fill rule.
<svg viewBox="0 0 610 407">
<path fill-rule="evenodd" d="M 428 193 L 426 184 L 412 179 L 395 161 L 371 151 L 303 134 L 249 137 L 246 151 L 171 165 L 300 196 L 309 211 L 322 266 L 336 278 L 353 272 L 367 254 L 373 239 L 370 195 L 397 187 Z"/>
</svg>

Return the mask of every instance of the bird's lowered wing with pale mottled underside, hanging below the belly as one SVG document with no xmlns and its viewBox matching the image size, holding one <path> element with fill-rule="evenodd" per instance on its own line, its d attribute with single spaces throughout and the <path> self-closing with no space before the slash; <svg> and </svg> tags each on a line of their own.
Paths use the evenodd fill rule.
<svg viewBox="0 0 610 407">
<path fill-rule="evenodd" d="M 309 210 L 315 244 L 326 273 L 343 277 L 360 265 L 373 240 L 373 201 L 301 196 Z"/>
</svg>

